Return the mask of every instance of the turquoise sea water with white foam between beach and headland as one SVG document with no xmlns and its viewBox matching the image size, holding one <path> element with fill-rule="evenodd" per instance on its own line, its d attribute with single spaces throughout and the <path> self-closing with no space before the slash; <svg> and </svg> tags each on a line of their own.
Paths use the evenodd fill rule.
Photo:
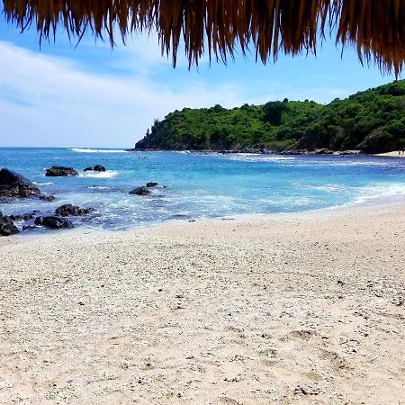
<svg viewBox="0 0 405 405">
<path fill-rule="evenodd" d="M 102 164 L 107 172 L 83 172 Z M 77 177 L 45 177 L 50 166 L 73 166 Z M 63 203 L 94 207 L 76 225 L 129 229 L 165 220 L 319 210 L 387 199 L 405 200 L 405 159 L 383 157 L 219 155 L 125 152 L 121 149 L 0 148 L 8 167 L 52 193 L 55 202 L 0 203 L 4 214 L 50 213 Z M 130 190 L 156 181 L 150 196 Z"/>
</svg>

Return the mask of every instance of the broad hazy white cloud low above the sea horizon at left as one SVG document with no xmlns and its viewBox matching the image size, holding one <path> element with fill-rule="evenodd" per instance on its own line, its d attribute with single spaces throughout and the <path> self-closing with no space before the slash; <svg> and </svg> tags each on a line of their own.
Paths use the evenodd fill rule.
<svg viewBox="0 0 405 405">
<path fill-rule="evenodd" d="M 237 88 L 85 71 L 76 62 L 0 41 L 2 146 L 130 147 L 154 118 L 187 107 L 241 104 Z M 147 57 L 145 57 L 147 58 Z"/>
</svg>

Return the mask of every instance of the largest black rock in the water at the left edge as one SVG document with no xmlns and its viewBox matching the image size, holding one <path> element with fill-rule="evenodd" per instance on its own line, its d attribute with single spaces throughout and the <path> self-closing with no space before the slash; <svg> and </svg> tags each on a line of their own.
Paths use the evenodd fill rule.
<svg viewBox="0 0 405 405">
<path fill-rule="evenodd" d="M 40 189 L 28 178 L 7 168 L 0 170 L 0 199 L 37 197 L 39 195 Z"/>
</svg>

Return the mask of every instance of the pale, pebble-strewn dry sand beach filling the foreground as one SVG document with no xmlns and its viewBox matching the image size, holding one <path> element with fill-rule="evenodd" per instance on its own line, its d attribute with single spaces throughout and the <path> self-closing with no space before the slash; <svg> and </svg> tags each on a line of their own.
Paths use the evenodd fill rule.
<svg viewBox="0 0 405 405">
<path fill-rule="evenodd" d="M 399 206 L 0 240 L 0 403 L 399 404 Z"/>
</svg>

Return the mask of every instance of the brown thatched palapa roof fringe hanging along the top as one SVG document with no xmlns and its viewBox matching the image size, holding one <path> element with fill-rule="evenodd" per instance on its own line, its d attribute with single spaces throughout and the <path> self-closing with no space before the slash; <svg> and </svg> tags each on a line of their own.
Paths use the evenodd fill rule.
<svg viewBox="0 0 405 405">
<path fill-rule="evenodd" d="M 374 60 L 401 73 L 405 60 L 405 0 L 3 0 L 4 14 L 23 31 L 31 24 L 40 38 L 64 27 L 80 39 L 85 31 L 122 38 L 157 31 L 162 52 L 180 46 L 190 64 L 206 51 L 226 61 L 249 46 L 264 63 L 280 51 L 315 51 L 317 40 L 336 34 L 337 44 L 354 44 L 360 61 Z"/>
</svg>

